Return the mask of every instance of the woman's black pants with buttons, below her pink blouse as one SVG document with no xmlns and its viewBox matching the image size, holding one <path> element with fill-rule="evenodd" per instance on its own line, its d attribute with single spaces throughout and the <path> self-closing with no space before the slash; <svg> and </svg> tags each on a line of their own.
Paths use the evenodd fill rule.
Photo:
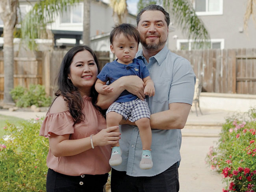
<svg viewBox="0 0 256 192">
<path fill-rule="evenodd" d="M 46 178 L 47 192 L 103 192 L 108 181 L 104 175 L 69 176 L 48 169 Z"/>
</svg>

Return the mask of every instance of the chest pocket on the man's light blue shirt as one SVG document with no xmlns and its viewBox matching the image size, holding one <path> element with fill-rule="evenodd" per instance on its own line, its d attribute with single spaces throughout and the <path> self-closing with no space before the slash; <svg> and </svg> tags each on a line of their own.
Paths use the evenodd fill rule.
<svg viewBox="0 0 256 192">
<path fill-rule="evenodd" d="M 153 80 L 156 90 L 156 93 L 152 98 L 153 102 L 163 103 L 169 100 L 171 80 L 171 77 L 161 77 Z"/>
</svg>

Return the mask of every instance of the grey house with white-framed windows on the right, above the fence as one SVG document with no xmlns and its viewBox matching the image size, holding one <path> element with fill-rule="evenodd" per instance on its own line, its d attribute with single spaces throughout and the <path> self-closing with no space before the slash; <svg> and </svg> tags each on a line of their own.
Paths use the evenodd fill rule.
<svg viewBox="0 0 256 192">
<path fill-rule="evenodd" d="M 256 48 L 256 25 L 252 16 L 249 19 L 247 30 L 243 27 L 247 1 L 192 1 L 196 14 L 204 22 L 204 26 L 210 33 L 211 48 Z M 174 31 L 169 33 L 168 44 L 171 50 L 198 49 L 197 42 L 187 39 L 182 30 L 176 26 L 175 28 Z"/>
</svg>

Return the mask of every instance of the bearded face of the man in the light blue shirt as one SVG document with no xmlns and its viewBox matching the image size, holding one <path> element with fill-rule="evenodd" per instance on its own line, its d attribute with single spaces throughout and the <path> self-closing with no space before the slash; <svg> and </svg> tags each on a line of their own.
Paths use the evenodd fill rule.
<svg viewBox="0 0 256 192">
<path fill-rule="evenodd" d="M 161 11 L 145 11 L 138 24 L 141 44 L 150 51 L 160 51 L 167 41 L 168 26 Z"/>
</svg>

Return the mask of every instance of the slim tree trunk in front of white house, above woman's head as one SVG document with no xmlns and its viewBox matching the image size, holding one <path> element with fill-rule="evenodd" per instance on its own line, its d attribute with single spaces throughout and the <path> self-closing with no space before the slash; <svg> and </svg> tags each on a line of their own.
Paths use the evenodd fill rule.
<svg viewBox="0 0 256 192">
<path fill-rule="evenodd" d="M 83 44 L 90 46 L 91 0 L 83 0 Z"/>
</svg>

